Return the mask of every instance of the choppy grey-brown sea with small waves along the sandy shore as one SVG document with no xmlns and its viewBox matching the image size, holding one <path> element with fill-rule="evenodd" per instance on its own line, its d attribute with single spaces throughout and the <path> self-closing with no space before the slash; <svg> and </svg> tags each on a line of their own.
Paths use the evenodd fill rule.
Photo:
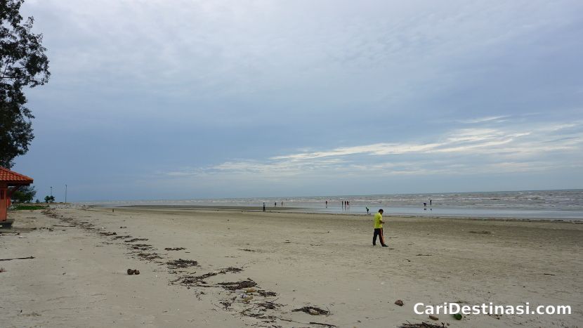
<svg viewBox="0 0 583 328">
<path fill-rule="evenodd" d="M 343 202 L 349 202 L 345 206 Z M 305 213 L 583 220 L 583 189 L 100 202 L 103 206 L 262 206 Z M 94 203 L 95 204 L 95 203 Z M 289 209 L 289 208 L 293 209 Z"/>
</svg>

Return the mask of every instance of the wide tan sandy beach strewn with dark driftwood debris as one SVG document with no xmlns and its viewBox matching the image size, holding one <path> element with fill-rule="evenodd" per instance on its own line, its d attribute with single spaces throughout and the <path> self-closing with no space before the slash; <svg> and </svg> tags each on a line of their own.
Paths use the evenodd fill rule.
<svg viewBox="0 0 583 328">
<path fill-rule="evenodd" d="M 387 217 L 382 248 L 362 215 L 53 205 L 10 216 L 0 257 L 24 259 L 0 261 L 0 327 L 583 322 L 583 224 Z M 415 303 L 443 302 L 572 314 L 414 313 Z M 322 312 L 294 311 L 306 307 Z"/>
</svg>

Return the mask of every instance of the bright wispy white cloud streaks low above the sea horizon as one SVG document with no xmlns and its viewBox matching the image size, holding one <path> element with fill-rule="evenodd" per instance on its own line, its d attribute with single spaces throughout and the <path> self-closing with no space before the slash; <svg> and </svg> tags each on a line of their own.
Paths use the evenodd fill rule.
<svg viewBox="0 0 583 328">
<path fill-rule="evenodd" d="M 425 143 L 375 143 L 314 150 L 264 159 L 228 161 L 215 166 L 166 173 L 168 176 L 237 176 L 249 180 L 337 174 L 393 176 L 491 174 L 583 169 L 583 121 L 570 124 L 506 124 L 464 129 Z M 561 161 L 556 161 L 556 158 Z"/>
</svg>

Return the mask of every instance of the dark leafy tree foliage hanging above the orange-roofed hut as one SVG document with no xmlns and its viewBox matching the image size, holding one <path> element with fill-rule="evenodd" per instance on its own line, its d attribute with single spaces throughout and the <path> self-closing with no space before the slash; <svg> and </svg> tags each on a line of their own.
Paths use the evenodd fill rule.
<svg viewBox="0 0 583 328">
<path fill-rule="evenodd" d="M 51 75 L 42 34 L 32 33 L 34 18 L 20 15 L 23 2 L 0 0 L 0 166 L 8 168 L 34 138 L 23 88 L 43 85 Z"/>
</svg>

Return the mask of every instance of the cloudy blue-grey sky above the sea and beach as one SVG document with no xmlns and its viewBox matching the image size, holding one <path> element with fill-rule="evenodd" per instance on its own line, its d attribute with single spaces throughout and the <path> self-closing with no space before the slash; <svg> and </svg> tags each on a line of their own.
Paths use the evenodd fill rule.
<svg viewBox="0 0 583 328">
<path fill-rule="evenodd" d="M 583 188 L 583 2 L 27 0 L 57 201 Z"/>
</svg>

